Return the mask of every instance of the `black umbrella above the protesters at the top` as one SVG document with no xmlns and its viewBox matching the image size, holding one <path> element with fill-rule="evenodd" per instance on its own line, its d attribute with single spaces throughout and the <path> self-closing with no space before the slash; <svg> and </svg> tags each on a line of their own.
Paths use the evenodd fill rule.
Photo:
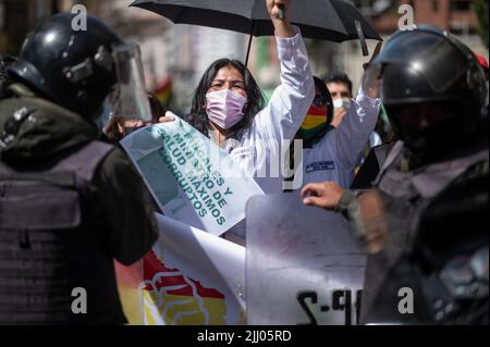
<svg viewBox="0 0 490 347">
<path fill-rule="evenodd" d="M 265 0 L 136 0 L 132 7 L 156 12 L 173 23 L 194 24 L 250 34 L 272 36 L 274 28 Z M 365 38 L 381 37 L 352 4 L 343 0 L 292 1 L 291 22 L 304 37 L 342 42 L 359 39 L 367 55 Z"/>
</svg>

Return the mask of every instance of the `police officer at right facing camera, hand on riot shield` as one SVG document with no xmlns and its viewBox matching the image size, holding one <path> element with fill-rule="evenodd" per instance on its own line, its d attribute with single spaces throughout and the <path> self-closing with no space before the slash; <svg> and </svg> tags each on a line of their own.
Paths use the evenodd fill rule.
<svg viewBox="0 0 490 347">
<path fill-rule="evenodd" d="M 306 186 L 308 206 L 346 211 L 368 257 L 365 323 L 488 322 L 485 73 L 452 35 L 393 35 L 365 88 L 380 88 L 396 136 L 376 190 Z M 486 317 L 486 319 L 485 319 Z"/>
</svg>

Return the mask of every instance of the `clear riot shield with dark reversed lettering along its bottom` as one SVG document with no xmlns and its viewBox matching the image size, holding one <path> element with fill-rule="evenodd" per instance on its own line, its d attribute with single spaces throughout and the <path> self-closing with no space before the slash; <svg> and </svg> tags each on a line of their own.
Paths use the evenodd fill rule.
<svg viewBox="0 0 490 347">
<path fill-rule="evenodd" d="M 366 255 L 342 214 L 259 196 L 246 228 L 248 324 L 357 324 Z"/>
</svg>

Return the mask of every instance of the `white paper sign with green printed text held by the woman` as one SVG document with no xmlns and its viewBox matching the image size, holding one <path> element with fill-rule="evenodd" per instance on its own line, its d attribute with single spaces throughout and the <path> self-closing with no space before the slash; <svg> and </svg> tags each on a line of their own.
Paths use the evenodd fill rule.
<svg viewBox="0 0 490 347">
<path fill-rule="evenodd" d="M 166 215 L 213 235 L 242 221 L 248 198 L 264 194 L 224 150 L 177 116 L 121 145 Z"/>
</svg>

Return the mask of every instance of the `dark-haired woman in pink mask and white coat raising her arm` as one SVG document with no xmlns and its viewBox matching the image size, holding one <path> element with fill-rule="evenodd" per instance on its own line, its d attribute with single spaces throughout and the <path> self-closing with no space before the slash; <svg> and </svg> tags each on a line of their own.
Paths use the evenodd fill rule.
<svg viewBox="0 0 490 347">
<path fill-rule="evenodd" d="M 299 29 L 290 23 L 290 4 L 291 0 L 267 0 L 281 63 L 281 85 L 269 104 L 242 62 L 220 59 L 200 79 L 187 117 L 267 194 L 282 191 L 277 172 L 267 169 L 281 159 L 282 140 L 294 138 L 315 96 L 306 47 Z"/>
</svg>

